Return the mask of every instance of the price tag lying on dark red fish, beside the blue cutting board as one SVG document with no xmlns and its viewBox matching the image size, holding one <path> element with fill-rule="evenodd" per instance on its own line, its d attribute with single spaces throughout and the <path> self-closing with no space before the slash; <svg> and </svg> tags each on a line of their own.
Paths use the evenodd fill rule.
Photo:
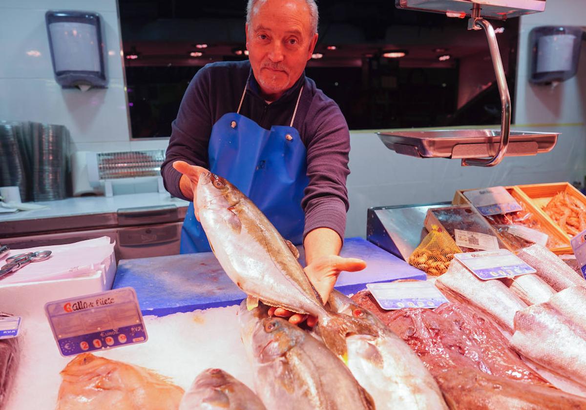
<svg viewBox="0 0 586 410">
<path fill-rule="evenodd" d="M 448 299 L 427 281 L 367 283 L 379 306 L 385 310 L 403 308 L 434 309 L 448 303 Z"/>
</svg>

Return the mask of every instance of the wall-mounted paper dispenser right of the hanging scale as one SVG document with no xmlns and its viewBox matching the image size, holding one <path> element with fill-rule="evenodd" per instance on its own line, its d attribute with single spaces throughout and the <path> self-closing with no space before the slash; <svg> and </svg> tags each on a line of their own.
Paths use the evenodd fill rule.
<svg viewBox="0 0 586 410">
<path fill-rule="evenodd" d="M 531 30 L 529 81 L 550 84 L 574 77 L 578 71 L 582 33 L 581 27 L 568 26 L 542 26 Z"/>
</svg>

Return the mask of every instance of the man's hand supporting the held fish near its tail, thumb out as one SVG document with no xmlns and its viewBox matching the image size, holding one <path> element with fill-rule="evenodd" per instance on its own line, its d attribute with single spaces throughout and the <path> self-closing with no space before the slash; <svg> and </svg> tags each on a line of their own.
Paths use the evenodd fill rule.
<svg viewBox="0 0 586 410">
<path fill-rule="evenodd" d="M 364 268 L 366 268 L 366 262 L 362 259 L 325 255 L 316 258 L 305 267 L 304 271 L 309 281 L 314 285 L 315 290 L 321 296 L 322 302 L 326 303 L 340 272 L 356 272 L 362 271 Z M 307 324 L 310 327 L 315 326 L 317 322 L 317 318 L 314 316 L 299 315 L 299 313 L 293 313 L 283 308 L 270 308 L 268 314 L 270 316 L 288 317 L 289 322 L 293 324 L 299 324 L 307 319 Z"/>
</svg>

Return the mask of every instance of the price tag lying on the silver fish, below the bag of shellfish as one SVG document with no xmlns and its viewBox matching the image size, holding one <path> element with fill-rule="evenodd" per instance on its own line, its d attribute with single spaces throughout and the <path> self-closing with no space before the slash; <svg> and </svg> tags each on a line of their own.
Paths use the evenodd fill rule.
<svg viewBox="0 0 586 410">
<path fill-rule="evenodd" d="M 537 272 L 506 249 L 466 252 L 465 254 L 455 254 L 454 258 L 458 259 L 462 265 L 483 281 L 513 278 L 514 276 Z"/>
</svg>

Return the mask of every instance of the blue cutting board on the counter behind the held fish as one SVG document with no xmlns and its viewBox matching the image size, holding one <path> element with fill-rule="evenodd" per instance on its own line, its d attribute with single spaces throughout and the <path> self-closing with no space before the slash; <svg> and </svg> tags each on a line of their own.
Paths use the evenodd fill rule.
<svg viewBox="0 0 586 410">
<path fill-rule="evenodd" d="M 304 261 L 302 248 L 300 253 L 299 260 Z M 340 255 L 364 259 L 367 264 L 363 271 L 340 274 L 336 289 L 346 294 L 364 289 L 366 283 L 426 278 L 424 272 L 362 238 L 346 238 Z M 125 286 L 137 292 L 143 315 L 165 316 L 236 305 L 246 297 L 212 252 L 122 259 L 113 287 Z"/>
</svg>

